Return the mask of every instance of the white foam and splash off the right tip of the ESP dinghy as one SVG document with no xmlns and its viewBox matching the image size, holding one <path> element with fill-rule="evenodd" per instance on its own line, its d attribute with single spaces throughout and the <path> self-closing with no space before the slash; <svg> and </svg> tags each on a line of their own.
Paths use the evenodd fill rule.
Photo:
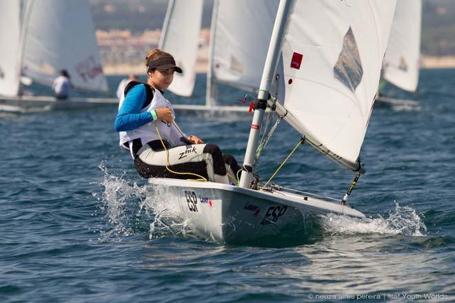
<svg viewBox="0 0 455 303">
<path fill-rule="evenodd" d="M 323 216 L 322 226 L 327 233 L 382 233 L 403 236 L 425 236 L 427 227 L 412 207 L 401 207 L 395 202 L 395 210 L 378 218 L 350 218 L 347 216 Z"/>
</svg>

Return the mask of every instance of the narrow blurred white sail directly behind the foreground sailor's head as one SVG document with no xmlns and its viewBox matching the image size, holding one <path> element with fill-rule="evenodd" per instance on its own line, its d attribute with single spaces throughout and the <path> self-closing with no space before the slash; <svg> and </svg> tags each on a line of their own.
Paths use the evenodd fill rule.
<svg viewBox="0 0 455 303">
<path fill-rule="evenodd" d="M 174 74 L 169 87 L 180 96 L 191 96 L 194 90 L 202 8 L 202 0 L 171 0 L 166 13 L 159 48 L 170 52 L 183 70 Z"/>
</svg>

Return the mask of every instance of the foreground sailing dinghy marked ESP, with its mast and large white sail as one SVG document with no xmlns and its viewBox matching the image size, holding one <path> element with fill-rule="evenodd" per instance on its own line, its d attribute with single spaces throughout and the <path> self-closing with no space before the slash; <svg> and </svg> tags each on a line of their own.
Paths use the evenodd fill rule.
<svg viewBox="0 0 455 303">
<path fill-rule="evenodd" d="M 261 90 L 239 185 L 150 178 L 165 199 L 179 202 L 192 231 L 220 242 L 248 242 L 303 223 L 310 215 L 335 213 L 364 218 L 347 197 L 363 173 L 359 157 L 378 87 L 396 0 L 281 0 L 263 68 Z M 323 22 L 322 22 L 323 21 Z M 270 92 L 283 58 L 284 100 Z M 279 74 L 279 73 L 278 73 Z M 254 168 L 266 108 L 334 162 L 354 172 L 336 202 L 282 187 L 258 185 Z M 274 127 L 272 127 L 274 129 Z M 258 148 L 259 147 L 259 148 Z M 163 191 L 160 191 L 163 192 Z"/>
</svg>

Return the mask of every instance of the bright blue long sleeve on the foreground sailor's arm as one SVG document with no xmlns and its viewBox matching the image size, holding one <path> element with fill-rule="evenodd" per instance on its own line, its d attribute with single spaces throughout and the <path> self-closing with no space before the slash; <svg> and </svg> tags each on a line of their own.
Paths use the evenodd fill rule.
<svg viewBox="0 0 455 303">
<path fill-rule="evenodd" d="M 141 113 L 145 98 L 145 86 L 143 84 L 136 85 L 128 91 L 119 109 L 119 114 L 115 118 L 116 132 L 128 132 L 153 121 L 150 112 Z"/>
</svg>

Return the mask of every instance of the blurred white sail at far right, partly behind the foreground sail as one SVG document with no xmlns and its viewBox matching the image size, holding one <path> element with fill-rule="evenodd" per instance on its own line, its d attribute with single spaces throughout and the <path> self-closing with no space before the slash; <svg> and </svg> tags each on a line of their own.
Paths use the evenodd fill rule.
<svg viewBox="0 0 455 303">
<path fill-rule="evenodd" d="M 384 78 L 414 92 L 418 83 L 421 48 L 421 0 L 398 0 L 383 63 Z"/>
</svg>

